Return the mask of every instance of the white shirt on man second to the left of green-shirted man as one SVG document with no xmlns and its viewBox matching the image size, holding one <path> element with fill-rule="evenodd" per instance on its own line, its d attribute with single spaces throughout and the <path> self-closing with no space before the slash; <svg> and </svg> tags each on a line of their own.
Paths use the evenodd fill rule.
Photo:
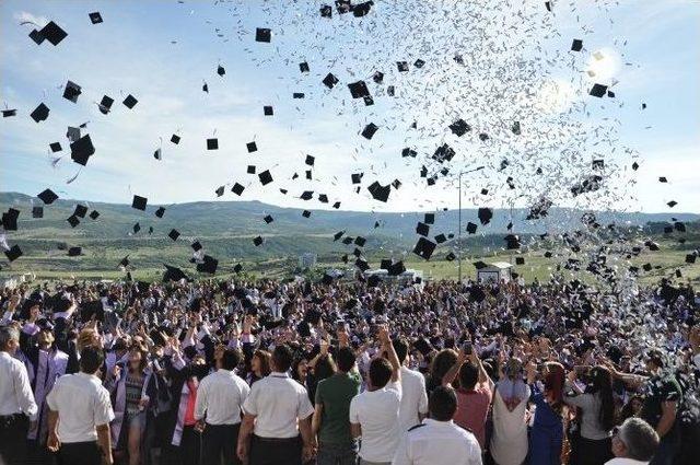
<svg viewBox="0 0 700 465">
<path fill-rule="evenodd" d="M 241 422 L 241 406 L 250 387 L 232 371 L 220 369 L 205 376 L 197 388 L 195 419 L 207 414 L 209 425 L 237 425 Z"/>
</svg>

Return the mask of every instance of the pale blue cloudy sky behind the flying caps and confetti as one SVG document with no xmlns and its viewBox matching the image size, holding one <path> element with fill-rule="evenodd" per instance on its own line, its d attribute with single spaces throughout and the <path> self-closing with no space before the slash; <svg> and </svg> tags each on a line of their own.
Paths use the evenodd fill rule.
<svg viewBox="0 0 700 465">
<path fill-rule="evenodd" d="M 329 20 L 318 14 L 322 3 L 3 0 L 0 104 L 18 116 L 0 121 L 0 190 L 51 188 L 63 198 L 120 204 L 136 194 L 152 204 L 341 201 L 343 210 L 412 211 L 455 208 L 456 174 L 485 166 L 464 176 L 464 207 L 527 207 L 547 197 L 591 209 L 700 212 L 700 1 L 556 1 L 548 12 L 529 0 L 432 0 L 420 9 L 395 0 L 375 1 L 365 18 L 334 12 Z M 93 11 L 103 23 L 91 23 Z M 27 36 L 48 21 L 68 32 L 58 46 Z M 256 27 L 272 30 L 270 44 L 255 42 Z M 570 51 L 573 38 L 583 39 L 582 51 Z M 413 65 L 419 58 L 422 69 Z M 392 69 L 397 60 L 408 60 L 409 72 Z M 301 61 L 310 73 L 300 72 Z M 377 69 L 386 82 L 375 85 Z M 320 83 L 328 72 L 340 80 L 332 90 Z M 347 84 L 360 79 L 372 106 L 350 96 Z M 68 80 L 82 88 L 75 104 L 61 97 Z M 614 83 L 615 98 L 588 95 L 597 82 Z M 395 97 L 386 92 L 392 83 Z M 293 92 L 306 97 L 293 100 Z M 139 101 L 133 109 L 121 104 L 129 94 Z M 103 95 L 115 100 L 108 115 L 96 105 Z M 28 115 L 42 102 L 50 114 L 37 124 Z M 264 105 L 275 115 L 265 116 Z M 446 126 L 457 117 L 474 133 L 451 135 Z M 515 119 L 522 138 L 508 130 Z M 81 168 L 65 135 L 85 121 L 96 153 Z M 372 140 L 359 135 L 369 123 L 380 127 Z M 476 138 L 480 130 L 489 141 Z M 214 137 L 220 148 L 208 151 Z M 48 146 L 57 141 L 63 151 L 52 154 Z M 247 152 L 250 141 L 257 152 Z M 447 166 L 425 161 L 442 143 L 456 156 L 428 186 L 419 172 Z M 402 158 L 405 147 L 418 158 Z M 605 188 L 572 197 L 570 186 L 599 158 Z M 248 165 L 270 170 L 275 182 L 261 186 Z M 355 193 L 350 175 L 359 172 Z M 394 179 L 401 185 L 388 202 L 366 189 Z M 230 191 L 234 183 L 246 186 L 241 197 Z M 220 186 L 225 194 L 218 197 Z M 301 200 L 304 190 L 330 201 Z"/>
</svg>

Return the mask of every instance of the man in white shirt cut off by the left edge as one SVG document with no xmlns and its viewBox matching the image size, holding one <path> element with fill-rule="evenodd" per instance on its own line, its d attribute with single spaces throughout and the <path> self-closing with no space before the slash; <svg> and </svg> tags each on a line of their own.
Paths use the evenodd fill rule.
<svg viewBox="0 0 700 465">
<path fill-rule="evenodd" d="M 12 357 L 18 347 L 20 332 L 0 327 L 0 463 L 8 464 L 26 458 L 26 433 L 38 411 L 26 367 Z"/>
</svg>

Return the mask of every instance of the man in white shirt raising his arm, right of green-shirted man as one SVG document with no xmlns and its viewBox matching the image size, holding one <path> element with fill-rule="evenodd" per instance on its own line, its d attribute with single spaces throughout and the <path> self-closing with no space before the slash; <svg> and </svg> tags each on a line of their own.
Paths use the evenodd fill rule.
<svg viewBox="0 0 700 465">
<path fill-rule="evenodd" d="M 380 353 L 387 358 L 372 360 L 368 391 L 350 402 L 350 431 L 353 438 L 362 437 L 360 465 L 390 463 L 399 439 L 401 367 L 386 327 L 380 328 L 377 339 Z"/>
</svg>

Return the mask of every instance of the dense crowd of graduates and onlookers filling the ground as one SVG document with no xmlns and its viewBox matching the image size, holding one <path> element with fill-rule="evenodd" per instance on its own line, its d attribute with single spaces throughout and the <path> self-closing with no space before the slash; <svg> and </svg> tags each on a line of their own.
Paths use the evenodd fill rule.
<svg viewBox="0 0 700 465">
<path fill-rule="evenodd" d="M 2 289 L 0 456 L 697 463 L 700 298 L 690 287 L 375 284 Z"/>
</svg>

